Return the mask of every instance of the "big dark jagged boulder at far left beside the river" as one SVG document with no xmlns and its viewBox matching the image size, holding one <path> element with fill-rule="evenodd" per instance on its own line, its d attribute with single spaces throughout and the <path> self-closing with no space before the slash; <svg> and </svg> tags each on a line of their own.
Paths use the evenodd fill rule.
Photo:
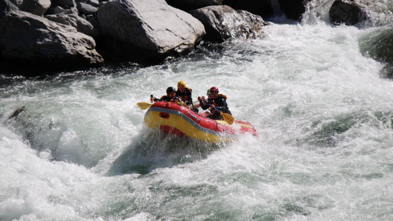
<svg viewBox="0 0 393 221">
<path fill-rule="evenodd" d="M 0 51 L 4 59 L 41 67 L 103 63 L 92 37 L 23 11 L 11 11 L 0 21 Z"/>
</svg>

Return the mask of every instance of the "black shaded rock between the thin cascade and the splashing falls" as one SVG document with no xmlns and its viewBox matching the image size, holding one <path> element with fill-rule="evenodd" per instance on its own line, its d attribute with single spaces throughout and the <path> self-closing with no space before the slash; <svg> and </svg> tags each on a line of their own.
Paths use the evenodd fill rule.
<svg viewBox="0 0 393 221">
<path fill-rule="evenodd" d="M 306 11 L 306 5 L 311 0 L 278 0 L 281 11 L 286 17 L 300 21 L 303 13 Z"/>
</svg>

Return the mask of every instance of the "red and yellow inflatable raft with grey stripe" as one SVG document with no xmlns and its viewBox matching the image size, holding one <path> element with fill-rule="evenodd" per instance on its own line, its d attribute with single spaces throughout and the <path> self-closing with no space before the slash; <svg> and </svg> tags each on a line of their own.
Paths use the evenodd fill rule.
<svg viewBox="0 0 393 221">
<path fill-rule="evenodd" d="M 211 120 L 204 113 L 195 113 L 175 103 L 156 102 L 145 114 L 144 121 L 152 129 L 210 142 L 235 139 L 239 134 L 259 137 L 250 123 L 235 120 L 231 125 L 222 120 Z"/>
</svg>

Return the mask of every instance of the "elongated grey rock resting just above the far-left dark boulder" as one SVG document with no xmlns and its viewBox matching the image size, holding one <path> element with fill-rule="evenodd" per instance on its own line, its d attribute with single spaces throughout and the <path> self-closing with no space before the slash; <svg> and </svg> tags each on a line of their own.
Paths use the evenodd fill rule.
<svg viewBox="0 0 393 221">
<path fill-rule="evenodd" d="M 75 27 L 78 32 L 92 36 L 93 38 L 98 37 L 98 32 L 94 29 L 93 25 L 90 24 L 84 18 L 81 18 L 74 14 L 50 14 L 46 15 L 45 18 L 52 22 L 61 23 L 64 25 L 70 25 Z"/>
</svg>

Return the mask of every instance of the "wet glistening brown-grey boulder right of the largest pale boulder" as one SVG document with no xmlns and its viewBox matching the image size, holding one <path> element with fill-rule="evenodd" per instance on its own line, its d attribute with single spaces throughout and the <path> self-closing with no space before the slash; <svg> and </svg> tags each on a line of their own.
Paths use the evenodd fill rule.
<svg viewBox="0 0 393 221">
<path fill-rule="evenodd" d="M 208 6 L 190 13 L 204 24 L 204 39 L 213 42 L 261 38 L 264 36 L 262 27 L 268 24 L 261 16 L 228 5 Z"/>
</svg>

